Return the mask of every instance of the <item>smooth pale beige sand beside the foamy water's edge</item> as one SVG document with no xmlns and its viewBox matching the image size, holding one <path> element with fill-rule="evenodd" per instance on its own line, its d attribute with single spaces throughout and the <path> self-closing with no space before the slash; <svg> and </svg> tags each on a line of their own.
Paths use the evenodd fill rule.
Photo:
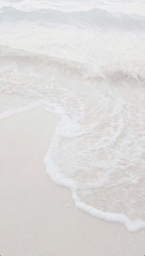
<svg viewBox="0 0 145 256">
<path fill-rule="evenodd" d="M 0 112 L 29 100 L 0 97 Z M 58 117 L 31 109 L 0 120 L 1 256 L 144 256 L 145 230 L 98 220 L 54 184 L 44 156 Z"/>
</svg>

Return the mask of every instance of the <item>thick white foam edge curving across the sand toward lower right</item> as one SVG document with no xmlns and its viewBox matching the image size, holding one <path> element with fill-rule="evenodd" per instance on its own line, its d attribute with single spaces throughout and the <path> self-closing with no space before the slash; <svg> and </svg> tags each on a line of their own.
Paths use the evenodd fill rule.
<svg viewBox="0 0 145 256">
<path fill-rule="evenodd" d="M 53 161 L 50 159 L 50 151 L 48 151 L 45 155 L 44 163 L 47 169 L 47 173 L 49 174 L 49 177 L 50 179 L 52 179 L 53 182 L 71 189 L 74 203 L 76 207 L 80 210 L 83 210 L 86 213 L 89 213 L 90 215 L 97 218 L 100 218 L 101 220 L 122 223 L 130 232 L 136 232 L 139 229 L 145 228 L 145 221 L 131 221 L 127 218 L 127 216 L 123 214 L 100 211 L 92 207 L 91 205 L 87 205 L 86 203 L 81 202 L 77 195 L 78 189 L 75 182 L 72 179 L 66 178 L 62 173 L 58 171 L 56 164 L 53 163 Z"/>
</svg>

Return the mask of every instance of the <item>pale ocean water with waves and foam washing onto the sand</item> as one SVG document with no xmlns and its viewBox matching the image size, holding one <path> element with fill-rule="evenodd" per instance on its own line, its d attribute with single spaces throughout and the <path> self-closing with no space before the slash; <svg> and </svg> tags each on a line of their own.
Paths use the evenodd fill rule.
<svg viewBox="0 0 145 256">
<path fill-rule="evenodd" d="M 1 0 L 0 93 L 60 116 L 47 173 L 77 207 L 145 227 L 145 1 Z"/>
</svg>

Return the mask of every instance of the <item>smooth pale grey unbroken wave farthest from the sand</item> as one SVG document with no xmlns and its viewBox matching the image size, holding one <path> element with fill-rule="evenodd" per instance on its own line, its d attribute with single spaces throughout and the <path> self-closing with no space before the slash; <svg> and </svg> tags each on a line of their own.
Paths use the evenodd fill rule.
<svg viewBox="0 0 145 256">
<path fill-rule="evenodd" d="M 103 28 L 117 28 L 123 30 L 144 30 L 145 18 L 135 14 L 123 14 L 122 12 L 108 12 L 103 9 L 89 11 L 63 12 L 52 9 L 40 9 L 34 11 L 22 11 L 14 7 L 2 7 L 0 22 L 28 21 L 63 25 L 83 25 Z"/>
</svg>

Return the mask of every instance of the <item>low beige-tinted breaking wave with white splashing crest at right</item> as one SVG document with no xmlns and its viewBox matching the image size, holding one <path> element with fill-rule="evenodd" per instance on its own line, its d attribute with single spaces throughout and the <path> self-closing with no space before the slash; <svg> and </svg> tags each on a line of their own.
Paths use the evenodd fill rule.
<svg viewBox="0 0 145 256">
<path fill-rule="evenodd" d="M 35 65 L 37 63 L 53 66 L 55 69 L 69 71 L 69 75 L 79 75 L 84 79 L 100 79 L 110 80 L 115 82 L 116 80 L 134 80 L 135 82 L 144 82 L 145 69 L 143 63 L 134 64 L 130 66 L 119 67 L 118 65 L 98 66 L 97 64 L 85 63 L 79 61 L 68 61 L 67 59 L 55 58 L 53 56 L 44 55 L 41 53 L 31 53 L 23 49 L 10 48 L 8 46 L 0 45 L 0 56 L 3 60 L 9 62 L 17 62 L 18 64 L 31 63 Z"/>
</svg>

